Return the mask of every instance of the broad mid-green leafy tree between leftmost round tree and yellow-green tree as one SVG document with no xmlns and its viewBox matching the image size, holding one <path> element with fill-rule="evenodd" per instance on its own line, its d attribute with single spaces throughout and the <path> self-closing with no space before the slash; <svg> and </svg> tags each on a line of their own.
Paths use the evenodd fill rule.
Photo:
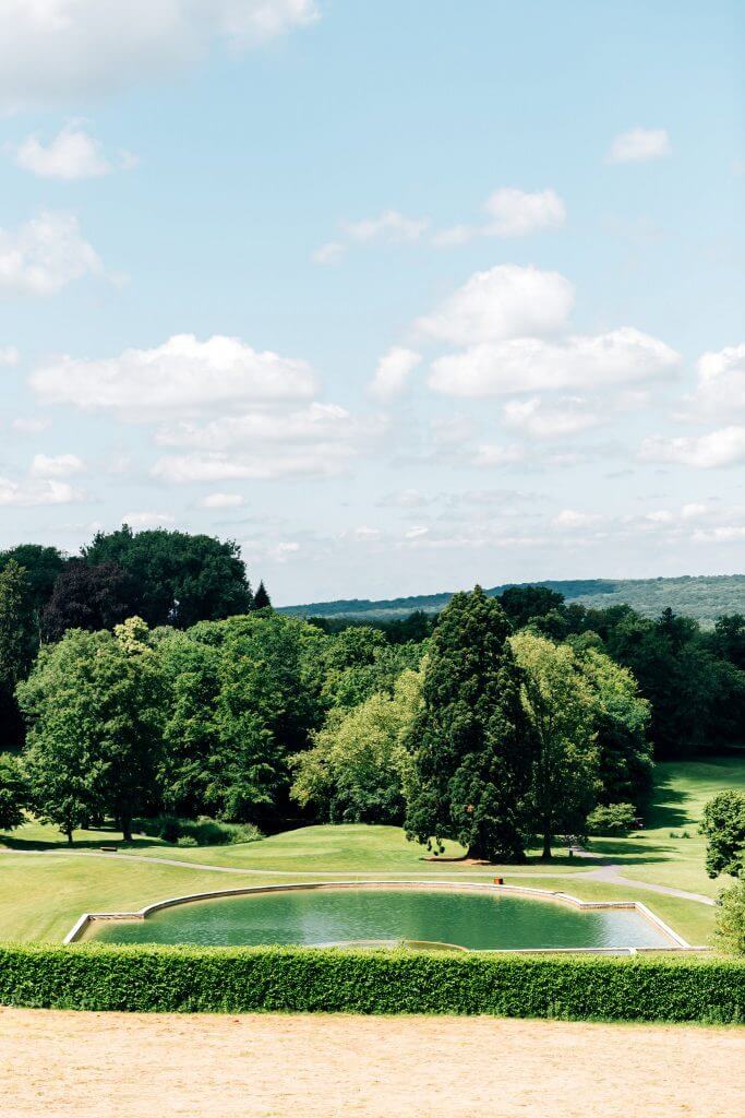
<svg viewBox="0 0 745 1118">
<path fill-rule="evenodd" d="M 202 622 L 162 639 L 170 699 L 160 785 L 169 809 L 241 822 L 281 812 L 288 757 L 322 721 L 325 641 L 275 613 Z"/>
</svg>

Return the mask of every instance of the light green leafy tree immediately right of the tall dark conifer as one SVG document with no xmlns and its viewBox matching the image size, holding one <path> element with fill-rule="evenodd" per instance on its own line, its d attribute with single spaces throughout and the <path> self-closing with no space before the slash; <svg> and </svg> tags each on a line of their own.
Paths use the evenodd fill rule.
<svg viewBox="0 0 745 1118">
<path fill-rule="evenodd" d="M 557 834 L 585 832 L 599 787 L 594 702 L 576 656 L 527 629 L 510 641 L 523 669 L 523 703 L 537 750 L 529 788 L 531 821 L 552 856 Z"/>
</svg>

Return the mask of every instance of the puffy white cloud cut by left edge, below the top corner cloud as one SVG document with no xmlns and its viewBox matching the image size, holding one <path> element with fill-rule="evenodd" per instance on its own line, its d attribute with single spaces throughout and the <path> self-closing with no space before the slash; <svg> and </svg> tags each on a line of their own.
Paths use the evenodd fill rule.
<svg viewBox="0 0 745 1118">
<path fill-rule="evenodd" d="M 16 231 L 0 229 L 0 293 L 54 295 L 85 275 L 103 275 L 103 266 L 73 215 L 42 211 Z"/>
</svg>

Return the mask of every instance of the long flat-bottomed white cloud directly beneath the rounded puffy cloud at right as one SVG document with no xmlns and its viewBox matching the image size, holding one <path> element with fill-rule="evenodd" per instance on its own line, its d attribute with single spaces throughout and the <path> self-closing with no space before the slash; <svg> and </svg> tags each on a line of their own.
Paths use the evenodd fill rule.
<svg viewBox="0 0 745 1118">
<path fill-rule="evenodd" d="M 481 397 L 592 388 L 669 375 L 679 356 L 632 326 L 558 342 L 537 338 L 472 345 L 432 363 L 430 387 L 449 396 Z"/>
</svg>

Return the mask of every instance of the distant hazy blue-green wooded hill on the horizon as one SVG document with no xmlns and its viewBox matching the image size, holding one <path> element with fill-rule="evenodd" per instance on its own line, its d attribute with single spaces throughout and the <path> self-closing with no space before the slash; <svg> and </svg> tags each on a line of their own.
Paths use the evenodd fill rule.
<svg viewBox="0 0 745 1118">
<path fill-rule="evenodd" d="M 565 581 L 494 586 L 486 593 L 493 597 L 508 586 L 547 586 L 563 594 L 567 601 L 605 608 L 625 604 L 640 614 L 656 617 L 670 606 L 677 614 L 695 617 L 705 626 L 714 625 L 722 614 L 745 614 L 745 575 L 700 575 L 682 578 L 585 578 Z M 353 617 L 392 620 L 407 617 L 416 609 L 439 613 L 452 597 L 448 594 L 420 594 L 410 598 L 345 598 L 338 601 L 311 601 L 302 606 L 284 606 L 280 613 L 300 617 Z"/>
</svg>

